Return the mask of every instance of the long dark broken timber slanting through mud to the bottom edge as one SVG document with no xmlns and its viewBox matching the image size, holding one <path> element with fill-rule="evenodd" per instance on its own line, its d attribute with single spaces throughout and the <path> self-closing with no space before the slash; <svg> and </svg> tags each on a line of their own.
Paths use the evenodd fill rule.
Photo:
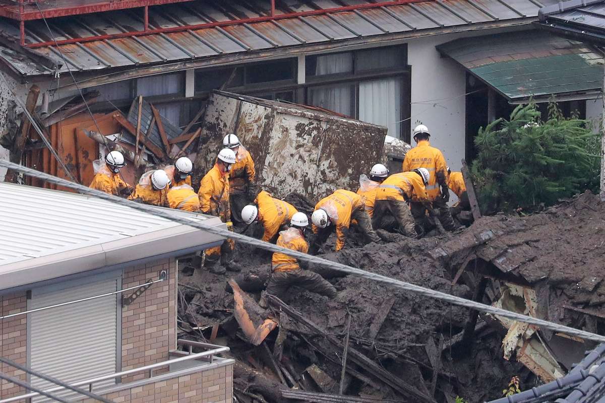
<svg viewBox="0 0 605 403">
<path fill-rule="evenodd" d="M 342 343 L 336 340 L 335 337 L 327 334 L 324 329 L 304 317 L 300 312 L 290 308 L 290 306 L 286 305 L 286 303 L 281 301 L 279 298 L 276 298 L 273 295 L 267 295 L 267 300 L 269 300 L 269 303 L 275 308 L 280 308 L 282 311 L 286 312 L 289 318 L 306 325 L 312 330 L 315 330 L 315 332 L 320 334 L 325 340 L 329 341 L 329 343 L 332 344 L 336 349 L 344 349 Z M 353 347 L 348 348 L 348 355 L 354 363 L 363 367 L 372 376 L 380 379 L 382 382 L 389 385 L 397 392 L 402 393 L 406 396 L 413 396 L 416 401 L 436 403 L 436 401 L 432 397 L 425 395 L 424 393 L 420 392 L 416 387 L 413 387 L 412 385 L 405 382 L 403 379 L 400 379 L 392 373 L 388 372 L 387 370 L 383 369 L 381 366 L 374 363 L 374 361 L 372 361 L 370 358 L 368 358 L 358 350 L 354 349 Z"/>
</svg>

